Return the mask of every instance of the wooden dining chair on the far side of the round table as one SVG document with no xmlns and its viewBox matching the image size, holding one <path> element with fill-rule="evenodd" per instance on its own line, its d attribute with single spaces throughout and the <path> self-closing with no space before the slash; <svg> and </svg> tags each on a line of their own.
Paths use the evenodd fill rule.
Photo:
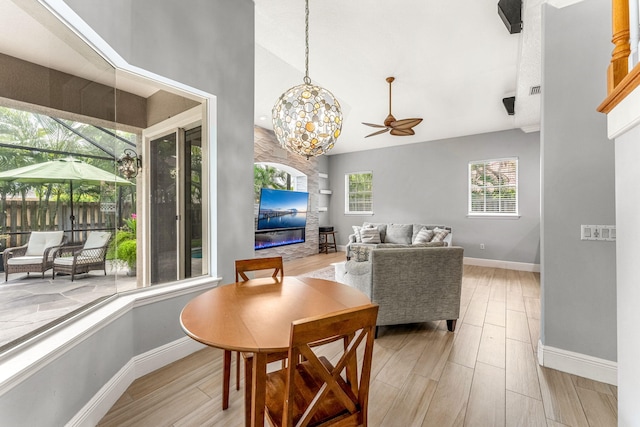
<svg viewBox="0 0 640 427">
<path fill-rule="evenodd" d="M 271 277 L 280 280 L 284 278 L 284 265 L 282 257 L 251 258 L 236 260 L 236 282 L 249 280 L 246 273 L 261 270 L 273 270 Z M 224 351 L 222 378 L 222 409 L 229 407 L 229 387 L 231 382 L 231 351 Z M 236 390 L 240 390 L 240 353 L 236 353 Z"/>
</svg>

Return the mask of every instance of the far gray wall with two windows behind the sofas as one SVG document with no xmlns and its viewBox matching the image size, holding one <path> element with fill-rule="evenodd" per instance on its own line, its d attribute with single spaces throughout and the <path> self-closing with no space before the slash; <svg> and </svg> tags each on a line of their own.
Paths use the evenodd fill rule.
<svg viewBox="0 0 640 427">
<path fill-rule="evenodd" d="M 468 218 L 468 167 L 474 160 L 518 157 L 519 219 Z M 344 214 L 344 176 L 373 171 L 374 216 Z M 341 244 L 352 225 L 444 224 L 465 257 L 540 263 L 539 133 L 494 132 L 329 156 L 331 222 Z M 485 249 L 480 249 L 484 243 Z"/>
</svg>

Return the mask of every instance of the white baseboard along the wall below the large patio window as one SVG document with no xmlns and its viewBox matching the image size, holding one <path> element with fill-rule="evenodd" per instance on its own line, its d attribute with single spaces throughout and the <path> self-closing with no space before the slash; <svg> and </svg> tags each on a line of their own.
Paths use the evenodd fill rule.
<svg viewBox="0 0 640 427">
<path fill-rule="evenodd" d="M 205 346 L 189 337 L 135 356 L 122 367 L 89 402 L 67 423 L 72 426 L 96 426 L 114 403 L 136 379 L 169 363 L 180 360 Z"/>
</svg>

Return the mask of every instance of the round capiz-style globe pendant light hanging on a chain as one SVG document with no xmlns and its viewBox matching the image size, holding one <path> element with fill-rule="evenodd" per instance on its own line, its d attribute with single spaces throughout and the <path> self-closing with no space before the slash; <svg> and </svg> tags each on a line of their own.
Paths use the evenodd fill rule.
<svg viewBox="0 0 640 427">
<path fill-rule="evenodd" d="M 280 145 L 293 153 L 320 156 L 331 150 L 342 130 L 342 111 L 328 90 L 309 78 L 309 0 L 305 0 L 304 83 L 283 93 L 272 110 Z"/>
</svg>

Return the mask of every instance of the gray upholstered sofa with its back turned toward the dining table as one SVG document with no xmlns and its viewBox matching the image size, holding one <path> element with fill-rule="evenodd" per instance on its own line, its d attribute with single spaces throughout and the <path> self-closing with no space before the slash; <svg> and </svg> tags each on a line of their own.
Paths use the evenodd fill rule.
<svg viewBox="0 0 640 427">
<path fill-rule="evenodd" d="M 378 326 L 446 320 L 447 328 L 455 330 L 463 248 L 368 247 L 362 252 L 358 260 L 335 265 L 336 281 L 379 304 Z"/>
</svg>

